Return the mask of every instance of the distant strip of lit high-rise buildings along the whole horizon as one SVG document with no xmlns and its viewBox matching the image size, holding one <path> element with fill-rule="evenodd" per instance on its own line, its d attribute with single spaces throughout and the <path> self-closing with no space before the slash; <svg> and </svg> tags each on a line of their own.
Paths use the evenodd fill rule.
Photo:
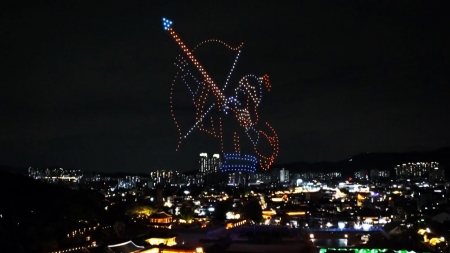
<svg viewBox="0 0 450 253">
<path fill-rule="evenodd" d="M 226 158 L 226 157 L 225 157 Z M 234 157 L 233 157 L 234 158 Z M 239 157 L 240 158 L 240 157 Z M 230 159 L 228 159 L 230 160 Z M 76 187 L 83 184 L 98 184 L 108 182 L 108 186 L 123 189 L 154 188 L 156 185 L 182 187 L 189 185 L 278 185 L 295 186 L 300 181 L 318 180 L 322 182 L 343 180 L 341 171 L 289 171 L 284 168 L 273 168 L 265 172 L 254 172 L 248 169 L 248 159 L 242 157 L 233 159 L 233 162 L 242 160 L 242 164 L 228 164 L 219 154 L 209 156 L 201 153 L 198 159 L 198 170 L 189 173 L 180 173 L 175 170 L 156 170 L 149 174 L 101 174 L 89 173 L 81 170 L 64 168 L 29 168 L 28 175 L 37 180 L 51 183 L 63 182 Z M 232 168 L 232 169 L 230 169 Z M 392 175 L 391 171 L 395 173 Z M 437 162 L 410 162 L 399 164 L 391 169 L 361 169 L 346 180 L 369 182 L 380 178 L 425 180 L 427 182 L 441 182 L 445 180 L 445 170 Z"/>
</svg>

